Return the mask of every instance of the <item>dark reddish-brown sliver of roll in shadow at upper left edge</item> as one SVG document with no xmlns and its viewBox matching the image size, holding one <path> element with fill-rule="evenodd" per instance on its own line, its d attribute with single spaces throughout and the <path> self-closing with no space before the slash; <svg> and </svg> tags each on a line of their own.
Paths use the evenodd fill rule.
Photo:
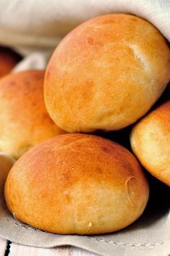
<svg viewBox="0 0 170 256">
<path fill-rule="evenodd" d="M 11 49 L 0 46 L 0 78 L 8 74 L 20 59 Z"/>
</svg>

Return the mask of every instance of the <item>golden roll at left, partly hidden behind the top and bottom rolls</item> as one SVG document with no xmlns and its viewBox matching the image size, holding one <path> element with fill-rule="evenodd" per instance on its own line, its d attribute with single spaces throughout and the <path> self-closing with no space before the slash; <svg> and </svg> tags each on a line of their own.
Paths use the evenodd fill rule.
<svg viewBox="0 0 170 256">
<path fill-rule="evenodd" d="M 0 152 L 19 158 L 32 146 L 63 131 L 43 100 L 44 71 L 9 74 L 0 80 Z"/>
</svg>

